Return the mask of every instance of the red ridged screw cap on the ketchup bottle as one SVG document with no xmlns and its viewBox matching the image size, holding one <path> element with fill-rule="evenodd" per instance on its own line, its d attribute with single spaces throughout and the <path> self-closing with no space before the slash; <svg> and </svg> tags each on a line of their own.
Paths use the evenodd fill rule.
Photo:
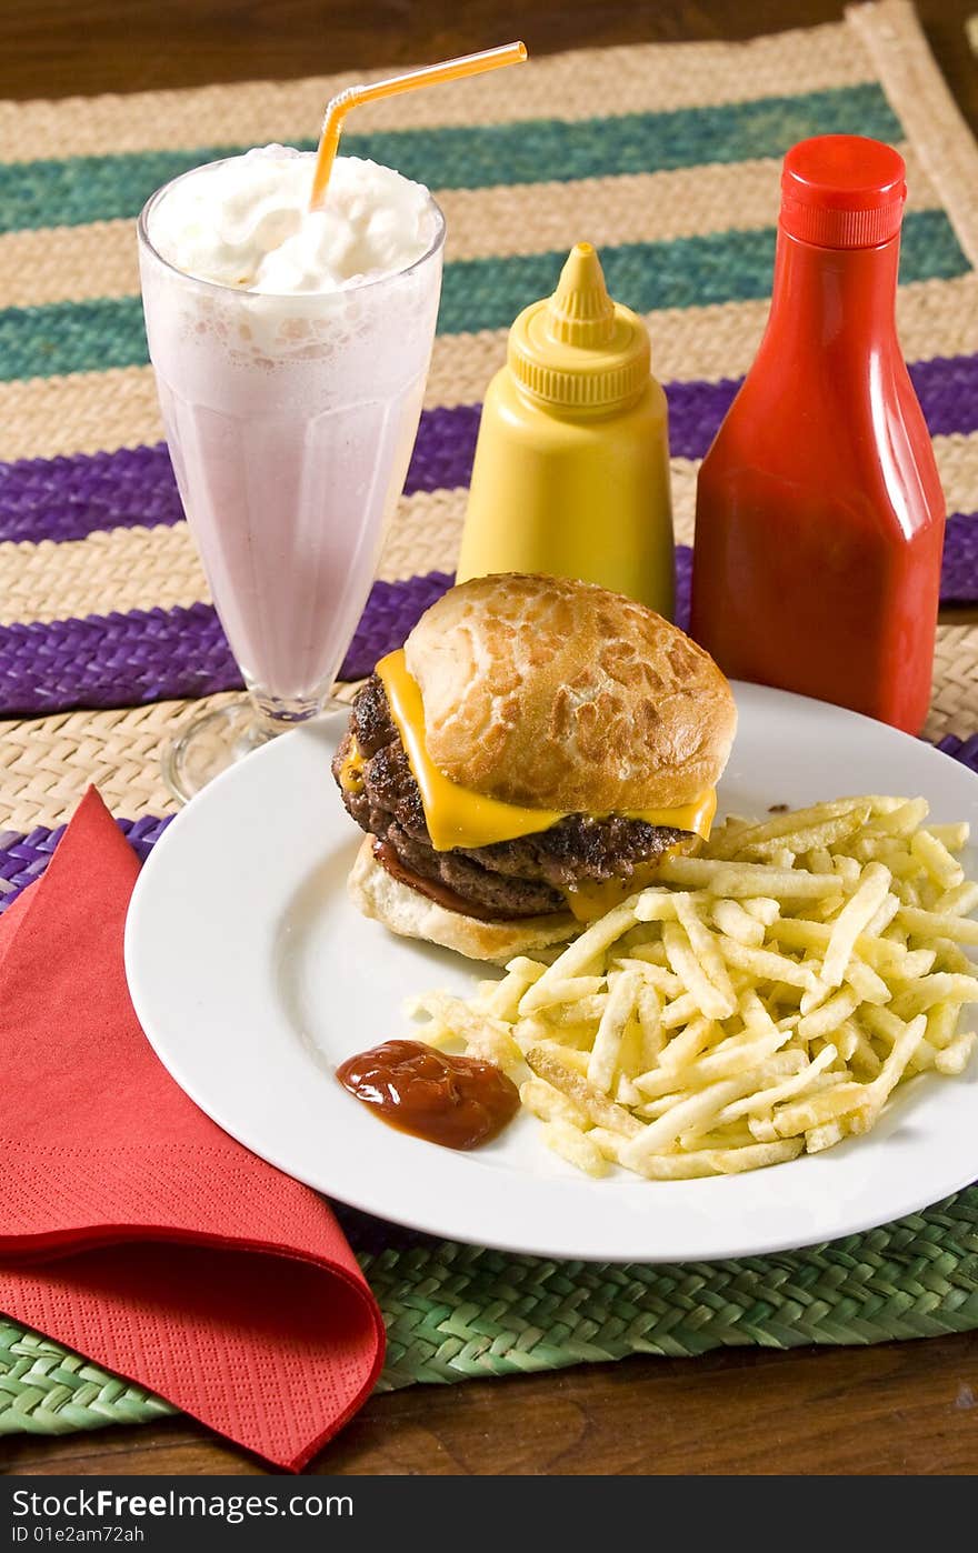
<svg viewBox="0 0 978 1553">
<path fill-rule="evenodd" d="M 874 248 L 900 230 L 905 179 L 903 157 L 880 140 L 801 140 L 784 160 L 781 225 L 821 248 Z"/>
</svg>

